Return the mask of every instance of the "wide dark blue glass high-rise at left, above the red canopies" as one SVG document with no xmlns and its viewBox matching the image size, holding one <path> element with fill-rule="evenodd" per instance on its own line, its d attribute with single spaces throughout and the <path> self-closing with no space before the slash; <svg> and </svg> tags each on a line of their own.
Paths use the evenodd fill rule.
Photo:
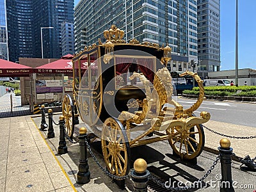
<svg viewBox="0 0 256 192">
<path fill-rule="evenodd" d="M 61 23 L 74 22 L 74 0 L 6 0 L 6 10 L 10 61 L 61 57 Z"/>
</svg>

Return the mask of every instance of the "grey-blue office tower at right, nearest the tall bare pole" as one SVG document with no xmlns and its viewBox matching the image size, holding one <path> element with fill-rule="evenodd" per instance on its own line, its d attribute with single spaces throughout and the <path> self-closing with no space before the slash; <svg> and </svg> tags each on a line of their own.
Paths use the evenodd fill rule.
<svg viewBox="0 0 256 192">
<path fill-rule="evenodd" d="M 220 0 L 198 0 L 198 74 L 220 70 Z"/>
</svg>

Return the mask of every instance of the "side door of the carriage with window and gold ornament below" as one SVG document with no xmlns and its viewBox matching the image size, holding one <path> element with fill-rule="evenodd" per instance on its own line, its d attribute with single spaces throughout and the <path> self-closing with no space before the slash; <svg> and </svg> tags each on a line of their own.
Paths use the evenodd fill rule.
<svg viewBox="0 0 256 192">
<path fill-rule="evenodd" d="M 86 124 L 91 124 L 91 110 L 90 110 L 90 70 L 88 67 L 88 55 L 80 58 L 79 65 L 79 113 Z"/>
</svg>

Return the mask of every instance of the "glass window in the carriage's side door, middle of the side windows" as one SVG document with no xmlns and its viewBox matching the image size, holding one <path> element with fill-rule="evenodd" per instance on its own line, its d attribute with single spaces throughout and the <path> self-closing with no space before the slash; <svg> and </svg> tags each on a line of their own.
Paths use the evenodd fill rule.
<svg viewBox="0 0 256 192">
<path fill-rule="evenodd" d="M 88 56 L 83 56 L 80 59 L 80 72 L 81 72 L 81 88 L 89 88 L 89 70 L 88 70 Z"/>
</svg>

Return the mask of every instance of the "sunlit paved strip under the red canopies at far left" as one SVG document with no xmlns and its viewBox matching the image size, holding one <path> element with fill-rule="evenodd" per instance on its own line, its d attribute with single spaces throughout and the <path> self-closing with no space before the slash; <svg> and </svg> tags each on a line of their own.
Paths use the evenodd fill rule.
<svg viewBox="0 0 256 192">
<path fill-rule="evenodd" d="M 12 95 L 12 108 L 10 97 Z M 0 118 L 10 116 L 30 115 L 29 106 L 21 106 L 20 96 L 14 93 L 6 93 L 0 97 Z"/>
</svg>

